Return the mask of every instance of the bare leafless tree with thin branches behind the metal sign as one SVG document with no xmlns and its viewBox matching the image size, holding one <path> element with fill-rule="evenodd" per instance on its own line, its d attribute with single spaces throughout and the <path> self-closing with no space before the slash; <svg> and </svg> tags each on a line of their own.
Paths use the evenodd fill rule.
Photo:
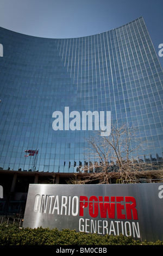
<svg viewBox="0 0 163 256">
<path fill-rule="evenodd" d="M 80 180 L 80 184 L 92 181 L 109 184 L 112 179 L 120 183 L 124 180 L 137 182 L 142 174 L 147 177 L 151 175 L 152 163 L 140 159 L 147 144 L 141 142 L 135 126 L 115 124 L 111 126 L 110 136 L 102 137 L 101 132 L 97 132 L 96 136 L 86 141 L 89 147 L 85 150 L 85 159 L 89 161 L 80 171 L 89 172 L 90 175 Z M 162 172 L 157 176 L 163 178 Z"/>
</svg>

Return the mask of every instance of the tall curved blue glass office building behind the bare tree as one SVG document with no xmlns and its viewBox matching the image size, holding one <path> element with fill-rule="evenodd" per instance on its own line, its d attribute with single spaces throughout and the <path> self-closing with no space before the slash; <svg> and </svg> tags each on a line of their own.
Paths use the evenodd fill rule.
<svg viewBox="0 0 163 256">
<path fill-rule="evenodd" d="M 91 131 L 52 127 L 53 112 L 110 111 L 162 161 L 162 68 L 142 17 L 101 34 L 47 39 L 0 28 L 0 167 L 76 172 Z M 34 156 L 26 150 L 39 150 Z M 35 158 L 37 156 L 37 159 Z M 36 161 L 36 162 L 34 162 Z"/>
</svg>

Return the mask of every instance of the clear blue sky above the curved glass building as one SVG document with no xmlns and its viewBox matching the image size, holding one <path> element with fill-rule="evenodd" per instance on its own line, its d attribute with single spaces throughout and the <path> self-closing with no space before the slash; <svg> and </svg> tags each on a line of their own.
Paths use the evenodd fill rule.
<svg viewBox="0 0 163 256">
<path fill-rule="evenodd" d="M 162 7 L 162 0 L 0 0 L 0 26 L 45 38 L 75 38 L 142 16 L 158 53 L 163 44 Z M 163 57 L 159 60 L 163 66 Z"/>
</svg>

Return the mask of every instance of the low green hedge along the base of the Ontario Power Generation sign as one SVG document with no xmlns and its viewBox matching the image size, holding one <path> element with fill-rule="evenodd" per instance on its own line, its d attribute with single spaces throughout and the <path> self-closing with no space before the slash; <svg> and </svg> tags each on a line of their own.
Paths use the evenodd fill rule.
<svg viewBox="0 0 163 256">
<path fill-rule="evenodd" d="M 130 236 L 77 233 L 75 230 L 22 228 L 17 224 L 0 224 L 0 245 L 163 245 L 163 241 L 146 242 Z"/>
</svg>

